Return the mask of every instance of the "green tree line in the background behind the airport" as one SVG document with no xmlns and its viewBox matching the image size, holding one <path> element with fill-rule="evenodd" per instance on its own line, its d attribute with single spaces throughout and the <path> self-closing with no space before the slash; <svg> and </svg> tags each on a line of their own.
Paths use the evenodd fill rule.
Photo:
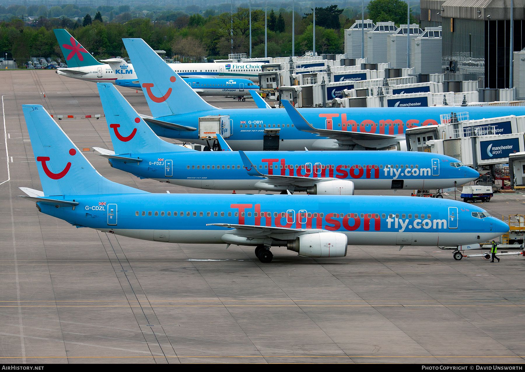
<svg viewBox="0 0 525 372">
<path fill-rule="evenodd" d="M 387 2 L 389 5 L 382 8 L 378 17 L 388 17 L 385 11 L 391 13 L 391 16 L 394 16 L 395 12 L 401 15 L 401 7 L 404 7 L 406 17 L 406 3 L 400 0 L 373 0 L 368 6 L 369 12 L 377 13 L 376 10 L 381 9 L 382 2 Z M 374 6 L 374 3 L 377 4 Z M 392 3 L 398 6 L 392 6 Z M 61 11 L 65 12 L 68 6 L 61 8 Z M 11 7 L 6 8 L 5 11 L 9 8 Z M 68 8 L 69 14 L 78 16 L 75 20 L 66 15 L 49 17 L 53 8 L 49 9 L 45 15 L 44 9 L 30 6 L 26 8 L 27 13 L 30 10 L 32 14 L 38 16 L 31 23 L 24 23 L 18 18 L 11 18 L 10 21 L 0 23 L 0 52 L 9 53 L 8 57 L 19 61 L 18 65 L 22 65 L 20 61 L 28 60 L 30 57 L 61 58 L 62 53 L 53 32 L 54 28 L 67 29 L 98 59 L 116 56 L 127 58 L 122 38 L 142 38 L 153 49 L 165 50 L 167 56 L 176 55 L 178 59 L 186 57 L 196 61 L 203 57 L 226 58 L 231 52 L 249 52 L 250 14 L 247 8 L 239 7 L 234 13 L 227 12 L 217 15 L 214 14 L 214 11 L 191 15 L 183 12 L 164 12 L 156 15 L 154 19 L 133 18 L 129 11 L 125 12 L 125 10 L 130 10 L 127 5 L 118 8 L 104 9 L 104 6 L 99 8 L 100 10 L 97 10 L 93 17 L 89 13 L 80 17 L 74 7 Z M 10 10 L 16 13 L 18 9 L 13 7 Z M 389 9 L 394 9 L 395 12 Z M 114 12 L 111 21 L 107 15 L 104 15 L 108 14 L 108 10 L 110 14 Z M 0 7 L 0 13 L 2 11 Z M 56 13 L 60 13 L 58 9 Z M 344 28 L 349 28 L 354 23 L 354 19 L 345 14 L 348 12 L 339 9 L 337 5 L 316 7 L 317 52 L 343 53 Z M 267 19 L 264 10 L 252 9 L 252 57 L 264 57 L 265 20 L 268 27 L 268 56 L 290 56 L 292 13 L 281 8 L 277 11 L 271 9 Z M 406 20 L 403 23 L 406 23 Z M 295 34 L 297 55 L 312 50 L 313 12 L 303 15 L 295 14 Z"/>
</svg>

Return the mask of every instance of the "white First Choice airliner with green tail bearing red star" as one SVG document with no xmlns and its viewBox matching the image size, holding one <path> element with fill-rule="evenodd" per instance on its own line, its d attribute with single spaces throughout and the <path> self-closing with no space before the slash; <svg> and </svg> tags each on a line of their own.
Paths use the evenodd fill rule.
<svg viewBox="0 0 525 372">
<path fill-rule="evenodd" d="M 121 58 L 102 60 L 109 64 L 101 63 L 93 58 L 91 53 L 83 48 L 67 30 L 56 28 L 53 31 L 68 65 L 67 68 L 57 69 L 57 74 L 97 83 L 110 81 L 117 85 L 140 89 L 139 79 L 133 71 L 132 64 L 128 64 Z M 262 64 L 264 63 L 170 63 L 169 66 L 183 78 L 235 78 L 259 82 L 258 74 Z"/>
</svg>

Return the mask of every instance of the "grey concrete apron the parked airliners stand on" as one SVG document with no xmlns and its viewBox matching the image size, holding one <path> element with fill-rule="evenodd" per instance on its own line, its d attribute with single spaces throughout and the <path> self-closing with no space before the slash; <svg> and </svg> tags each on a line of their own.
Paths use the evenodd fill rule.
<svg viewBox="0 0 525 372">
<path fill-rule="evenodd" d="M 261 264 L 250 247 L 145 242 L 39 213 L 16 196 L 41 190 L 21 105 L 101 114 L 97 87 L 46 70 L 0 78 L 0 363 L 523 363 L 523 258 L 349 246 L 338 259 L 274 248 Z M 150 114 L 140 91 L 119 90 Z M 103 118 L 58 124 L 81 150 L 112 149 Z M 104 177 L 143 190 L 222 193 L 140 180 L 85 155 Z M 523 213 L 525 194 L 480 206 Z"/>
</svg>

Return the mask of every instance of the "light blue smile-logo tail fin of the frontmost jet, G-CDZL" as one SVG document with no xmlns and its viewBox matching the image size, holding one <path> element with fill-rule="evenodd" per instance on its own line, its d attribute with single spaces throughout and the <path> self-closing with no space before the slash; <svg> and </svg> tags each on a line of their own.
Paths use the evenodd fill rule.
<svg viewBox="0 0 525 372">
<path fill-rule="evenodd" d="M 44 195 L 145 193 L 101 176 L 41 105 L 22 105 Z"/>
</svg>

